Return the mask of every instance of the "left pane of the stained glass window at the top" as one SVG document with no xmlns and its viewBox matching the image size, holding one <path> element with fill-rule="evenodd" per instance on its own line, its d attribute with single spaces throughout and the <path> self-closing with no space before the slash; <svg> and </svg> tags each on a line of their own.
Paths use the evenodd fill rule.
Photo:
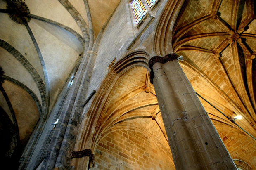
<svg viewBox="0 0 256 170">
<path fill-rule="evenodd" d="M 132 7 L 136 24 L 138 24 L 145 14 L 147 14 L 147 10 L 141 0 L 133 0 Z"/>
</svg>

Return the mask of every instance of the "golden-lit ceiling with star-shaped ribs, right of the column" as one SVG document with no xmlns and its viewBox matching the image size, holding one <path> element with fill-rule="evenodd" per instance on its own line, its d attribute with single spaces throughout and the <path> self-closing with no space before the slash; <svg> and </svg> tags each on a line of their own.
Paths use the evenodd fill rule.
<svg viewBox="0 0 256 170">
<path fill-rule="evenodd" d="M 239 141 L 239 134 L 247 134 L 237 125 L 256 136 L 255 2 L 187 1 L 175 23 L 172 42 L 173 51 L 184 57 L 180 64 L 194 90 L 225 114 L 199 97 L 232 158 L 239 155 L 238 159 L 255 167 L 255 156 L 234 148 L 247 145 Z M 229 119 L 237 115 L 242 119 L 235 120 L 235 125 Z M 227 137 L 237 139 L 231 144 L 225 141 Z M 255 145 L 254 139 L 251 142 Z"/>
</svg>

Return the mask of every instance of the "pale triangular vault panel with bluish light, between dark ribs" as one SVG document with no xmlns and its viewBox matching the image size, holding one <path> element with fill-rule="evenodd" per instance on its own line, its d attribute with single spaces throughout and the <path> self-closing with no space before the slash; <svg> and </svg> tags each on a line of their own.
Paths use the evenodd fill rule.
<svg viewBox="0 0 256 170">
<path fill-rule="evenodd" d="M 45 62 L 52 106 L 77 63 L 79 54 L 83 52 L 83 47 L 76 37 L 62 28 L 36 20 L 32 20 L 29 25 Z"/>
</svg>

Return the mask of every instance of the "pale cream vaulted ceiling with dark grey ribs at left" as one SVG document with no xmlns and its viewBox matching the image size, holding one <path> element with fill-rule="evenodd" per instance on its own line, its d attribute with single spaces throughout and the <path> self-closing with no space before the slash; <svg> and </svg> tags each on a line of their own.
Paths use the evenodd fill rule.
<svg viewBox="0 0 256 170">
<path fill-rule="evenodd" d="M 0 66 L 6 94 L 0 93 L 0 105 L 12 122 L 16 121 L 12 114 L 16 116 L 23 144 L 38 119 L 52 109 L 83 55 L 87 37 L 76 17 L 83 21 L 87 34 L 92 24 L 96 39 L 119 1 L 88 0 L 86 6 L 83 0 L 0 0 Z M 28 24 L 15 16 L 15 5 L 29 13 Z"/>
</svg>

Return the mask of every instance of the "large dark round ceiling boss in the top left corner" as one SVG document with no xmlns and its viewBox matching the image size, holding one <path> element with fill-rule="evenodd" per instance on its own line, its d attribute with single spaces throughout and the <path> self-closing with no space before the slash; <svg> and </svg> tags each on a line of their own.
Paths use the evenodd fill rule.
<svg viewBox="0 0 256 170">
<path fill-rule="evenodd" d="M 8 15 L 17 24 L 26 24 L 30 21 L 31 17 L 28 6 L 21 0 L 9 0 L 7 3 Z"/>
</svg>

